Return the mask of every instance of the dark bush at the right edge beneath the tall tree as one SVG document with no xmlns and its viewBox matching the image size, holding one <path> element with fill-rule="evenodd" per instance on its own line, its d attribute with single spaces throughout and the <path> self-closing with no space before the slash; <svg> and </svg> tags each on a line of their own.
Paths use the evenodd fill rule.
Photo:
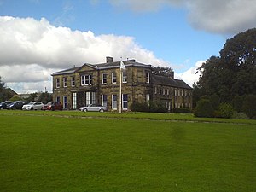
<svg viewBox="0 0 256 192">
<path fill-rule="evenodd" d="M 245 96 L 241 111 L 250 119 L 256 119 L 256 95 Z"/>
</svg>

